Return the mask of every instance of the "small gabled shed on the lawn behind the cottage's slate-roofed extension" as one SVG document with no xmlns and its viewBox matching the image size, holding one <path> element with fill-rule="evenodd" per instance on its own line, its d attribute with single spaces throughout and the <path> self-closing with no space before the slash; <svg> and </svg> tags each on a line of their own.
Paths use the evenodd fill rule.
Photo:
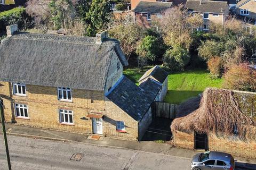
<svg viewBox="0 0 256 170">
<path fill-rule="evenodd" d="M 156 101 L 163 101 L 168 90 L 168 73 L 164 69 L 156 65 L 142 75 L 139 80 L 140 87 L 143 86 L 143 83 L 148 83 L 148 79 L 152 79 L 153 81 L 161 84 L 161 89 L 158 92 Z"/>
</svg>

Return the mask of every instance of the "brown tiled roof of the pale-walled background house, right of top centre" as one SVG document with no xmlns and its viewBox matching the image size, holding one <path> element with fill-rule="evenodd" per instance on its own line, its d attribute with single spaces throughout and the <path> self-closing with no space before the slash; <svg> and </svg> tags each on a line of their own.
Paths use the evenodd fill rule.
<svg viewBox="0 0 256 170">
<path fill-rule="evenodd" d="M 199 1 L 199 0 L 188 0 L 186 5 L 188 10 L 195 12 L 209 12 L 209 13 L 224 13 L 228 8 L 227 2 L 220 1 Z"/>
</svg>

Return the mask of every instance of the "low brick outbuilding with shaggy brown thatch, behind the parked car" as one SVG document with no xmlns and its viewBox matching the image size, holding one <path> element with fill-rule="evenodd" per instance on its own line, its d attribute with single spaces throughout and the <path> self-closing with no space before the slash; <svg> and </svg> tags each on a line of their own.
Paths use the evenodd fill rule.
<svg viewBox="0 0 256 170">
<path fill-rule="evenodd" d="M 184 107 L 195 107 L 193 102 Z M 198 104 L 197 104 L 198 105 Z M 256 158 L 256 93 L 206 89 L 199 108 L 171 125 L 174 145 Z"/>
</svg>

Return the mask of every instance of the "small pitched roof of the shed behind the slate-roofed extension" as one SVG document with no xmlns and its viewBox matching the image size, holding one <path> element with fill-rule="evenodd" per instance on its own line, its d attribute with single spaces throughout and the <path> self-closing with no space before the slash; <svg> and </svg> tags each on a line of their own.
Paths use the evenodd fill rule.
<svg viewBox="0 0 256 170">
<path fill-rule="evenodd" d="M 151 68 L 148 71 L 146 71 L 142 75 L 142 77 L 140 78 L 139 81 L 145 80 L 145 79 L 147 79 L 149 77 L 153 77 L 157 81 L 159 81 L 160 83 L 163 83 L 164 80 L 167 78 L 167 76 L 168 76 L 168 73 L 164 69 L 162 69 L 161 67 L 156 65 L 153 68 Z"/>
</svg>

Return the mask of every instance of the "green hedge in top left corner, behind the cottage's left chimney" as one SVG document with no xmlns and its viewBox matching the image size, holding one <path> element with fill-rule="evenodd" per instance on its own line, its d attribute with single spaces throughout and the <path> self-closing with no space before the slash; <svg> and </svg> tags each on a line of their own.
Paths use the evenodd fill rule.
<svg viewBox="0 0 256 170">
<path fill-rule="evenodd" d="M 31 19 L 24 7 L 15 7 L 12 10 L 0 12 L 0 33 L 6 32 L 6 26 L 18 24 L 19 29 L 31 26 Z"/>
</svg>

